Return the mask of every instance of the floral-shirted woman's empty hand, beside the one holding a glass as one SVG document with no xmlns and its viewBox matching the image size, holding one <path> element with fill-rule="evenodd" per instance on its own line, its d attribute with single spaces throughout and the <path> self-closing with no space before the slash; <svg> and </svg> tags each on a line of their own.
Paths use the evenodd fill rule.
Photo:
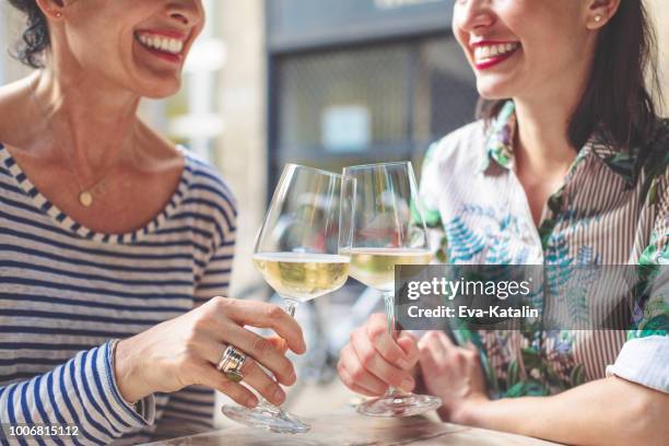
<svg viewBox="0 0 669 446">
<path fill-rule="evenodd" d="M 455 345 L 442 331 L 430 331 L 419 341 L 420 367 L 427 394 L 442 398 L 444 421 L 467 423 L 466 413 L 489 401 L 485 379 L 473 344 Z"/>
</svg>

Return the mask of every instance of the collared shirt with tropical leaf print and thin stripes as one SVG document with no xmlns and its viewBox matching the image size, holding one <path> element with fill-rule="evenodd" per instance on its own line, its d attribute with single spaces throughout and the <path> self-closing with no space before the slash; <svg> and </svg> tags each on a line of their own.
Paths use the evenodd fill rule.
<svg viewBox="0 0 669 446">
<path fill-rule="evenodd" d="M 555 394 L 611 373 L 669 392 L 669 122 L 658 126 L 647 157 L 588 141 L 539 225 L 513 168 L 515 131 L 509 101 L 490 126 L 473 122 L 430 149 L 421 199 L 437 257 L 471 265 L 643 265 L 661 268 L 665 282 L 644 308 L 620 315 L 627 331 L 456 334 L 479 347 L 496 397 Z"/>
</svg>

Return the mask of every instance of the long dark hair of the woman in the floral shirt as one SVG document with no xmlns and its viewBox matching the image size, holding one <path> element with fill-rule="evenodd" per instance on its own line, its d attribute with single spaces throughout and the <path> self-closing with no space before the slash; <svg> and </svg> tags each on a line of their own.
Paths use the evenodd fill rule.
<svg viewBox="0 0 669 446">
<path fill-rule="evenodd" d="M 643 150 L 658 122 L 646 74 L 661 101 L 657 43 L 643 0 L 622 0 L 598 37 L 588 84 L 570 120 L 572 146 L 579 150 L 596 133 L 615 150 Z M 490 121 L 504 103 L 481 98 L 477 116 Z"/>
</svg>

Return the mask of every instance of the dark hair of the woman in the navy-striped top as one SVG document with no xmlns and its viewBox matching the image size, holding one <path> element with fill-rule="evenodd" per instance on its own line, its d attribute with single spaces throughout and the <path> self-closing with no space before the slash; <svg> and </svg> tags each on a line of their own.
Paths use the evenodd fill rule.
<svg viewBox="0 0 669 446">
<path fill-rule="evenodd" d="M 26 28 L 11 52 L 24 64 L 33 68 L 44 67 L 44 50 L 49 47 L 49 27 L 44 13 L 35 0 L 9 0 L 10 4 L 26 15 Z"/>
</svg>

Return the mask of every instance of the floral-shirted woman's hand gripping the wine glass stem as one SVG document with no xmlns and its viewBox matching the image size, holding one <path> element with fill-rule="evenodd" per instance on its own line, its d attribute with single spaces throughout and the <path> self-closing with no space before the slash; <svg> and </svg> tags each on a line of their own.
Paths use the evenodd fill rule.
<svg viewBox="0 0 669 446">
<path fill-rule="evenodd" d="M 337 369 L 351 390 L 375 397 L 385 394 L 389 386 L 411 391 L 415 386 L 412 369 L 418 359 L 416 338 L 402 331 L 392 340 L 386 316 L 375 314 L 351 333 Z"/>
</svg>

